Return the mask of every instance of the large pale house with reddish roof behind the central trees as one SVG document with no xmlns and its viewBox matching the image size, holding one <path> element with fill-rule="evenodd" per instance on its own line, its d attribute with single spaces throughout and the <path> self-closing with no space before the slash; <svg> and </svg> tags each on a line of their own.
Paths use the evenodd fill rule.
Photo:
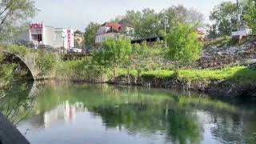
<svg viewBox="0 0 256 144">
<path fill-rule="evenodd" d="M 130 35 L 133 33 L 133 31 L 134 29 L 126 26 L 125 23 L 105 22 L 97 30 L 95 43 L 102 44 L 106 38 L 131 38 Z"/>
</svg>

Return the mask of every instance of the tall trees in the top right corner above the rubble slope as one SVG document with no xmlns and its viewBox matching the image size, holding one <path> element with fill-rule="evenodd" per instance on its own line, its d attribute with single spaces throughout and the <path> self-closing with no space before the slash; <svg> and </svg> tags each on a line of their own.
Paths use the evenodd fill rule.
<svg viewBox="0 0 256 144">
<path fill-rule="evenodd" d="M 230 36 L 232 31 L 238 30 L 238 26 L 249 26 L 256 30 L 255 14 L 255 0 L 241 0 L 238 5 L 232 1 L 221 2 L 211 11 L 210 20 L 213 24 L 207 26 L 209 38 Z"/>
</svg>

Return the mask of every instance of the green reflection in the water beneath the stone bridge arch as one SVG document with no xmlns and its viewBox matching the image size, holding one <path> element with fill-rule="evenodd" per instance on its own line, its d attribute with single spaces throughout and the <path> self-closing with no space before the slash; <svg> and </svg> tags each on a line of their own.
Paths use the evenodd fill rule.
<svg viewBox="0 0 256 144">
<path fill-rule="evenodd" d="M 8 90 L 2 90 L 6 96 L 0 99 L 0 112 L 16 126 L 33 109 L 37 87 L 35 82 L 16 84 Z"/>
</svg>

